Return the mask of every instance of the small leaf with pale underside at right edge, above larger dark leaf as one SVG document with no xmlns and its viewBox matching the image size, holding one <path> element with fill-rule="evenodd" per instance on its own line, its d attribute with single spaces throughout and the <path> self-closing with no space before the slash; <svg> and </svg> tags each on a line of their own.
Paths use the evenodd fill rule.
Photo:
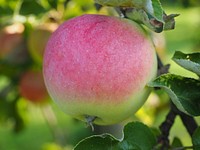
<svg viewBox="0 0 200 150">
<path fill-rule="evenodd" d="M 172 59 L 183 68 L 200 76 L 200 53 L 184 54 L 177 51 Z"/>
</svg>

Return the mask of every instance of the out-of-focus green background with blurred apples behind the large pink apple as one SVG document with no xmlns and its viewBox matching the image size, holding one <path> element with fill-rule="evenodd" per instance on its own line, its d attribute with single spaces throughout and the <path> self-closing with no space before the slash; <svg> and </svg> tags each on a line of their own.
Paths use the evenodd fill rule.
<svg viewBox="0 0 200 150">
<path fill-rule="evenodd" d="M 197 78 L 171 57 L 179 50 L 200 51 L 200 7 L 196 0 L 161 1 L 167 14 L 180 14 L 176 28 L 151 33 L 158 55 L 170 72 Z M 0 150 L 70 150 L 84 137 L 111 132 L 121 137 L 127 121 L 139 120 L 158 128 L 169 109 L 168 96 L 154 91 L 145 105 L 117 127 L 92 132 L 83 122 L 64 114 L 49 98 L 43 85 L 42 55 L 59 24 L 84 13 L 117 15 L 113 8 L 97 10 L 93 0 L 0 0 Z M 200 122 L 199 118 L 196 118 Z M 170 140 L 191 140 L 179 118 Z"/>
</svg>

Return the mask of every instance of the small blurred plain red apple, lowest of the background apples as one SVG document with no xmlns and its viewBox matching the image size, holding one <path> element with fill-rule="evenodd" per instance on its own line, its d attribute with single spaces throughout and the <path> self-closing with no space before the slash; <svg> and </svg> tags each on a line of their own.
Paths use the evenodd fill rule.
<svg viewBox="0 0 200 150">
<path fill-rule="evenodd" d="M 19 82 L 19 92 L 22 97 L 33 103 L 46 102 L 48 93 L 42 71 L 29 70 L 22 74 Z"/>
</svg>

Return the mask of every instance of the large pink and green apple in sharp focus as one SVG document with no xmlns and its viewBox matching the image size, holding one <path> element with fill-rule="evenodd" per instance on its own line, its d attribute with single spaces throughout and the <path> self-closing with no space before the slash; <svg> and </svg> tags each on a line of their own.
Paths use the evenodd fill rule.
<svg viewBox="0 0 200 150">
<path fill-rule="evenodd" d="M 43 75 L 52 99 L 69 115 L 109 125 L 133 115 L 156 76 L 153 44 L 136 23 L 83 15 L 64 22 L 49 39 Z"/>
</svg>

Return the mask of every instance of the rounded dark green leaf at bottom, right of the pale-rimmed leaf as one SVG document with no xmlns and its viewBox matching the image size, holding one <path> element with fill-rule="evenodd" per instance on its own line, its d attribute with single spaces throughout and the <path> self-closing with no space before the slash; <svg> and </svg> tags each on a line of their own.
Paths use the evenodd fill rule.
<svg viewBox="0 0 200 150">
<path fill-rule="evenodd" d="M 124 128 L 124 139 L 120 145 L 131 145 L 137 150 L 150 150 L 156 145 L 156 138 L 146 125 L 140 122 L 128 123 Z"/>
</svg>

